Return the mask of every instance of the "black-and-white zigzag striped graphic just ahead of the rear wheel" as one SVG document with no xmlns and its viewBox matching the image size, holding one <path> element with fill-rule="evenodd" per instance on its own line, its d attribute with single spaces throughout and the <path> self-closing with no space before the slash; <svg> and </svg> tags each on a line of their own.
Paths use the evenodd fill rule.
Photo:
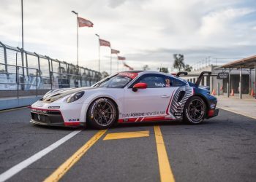
<svg viewBox="0 0 256 182">
<path fill-rule="evenodd" d="M 185 103 L 192 94 L 192 87 L 178 87 L 173 95 L 173 100 L 170 103 L 170 114 L 172 114 L 176 119 L 182 119 Z"/>
</svg>

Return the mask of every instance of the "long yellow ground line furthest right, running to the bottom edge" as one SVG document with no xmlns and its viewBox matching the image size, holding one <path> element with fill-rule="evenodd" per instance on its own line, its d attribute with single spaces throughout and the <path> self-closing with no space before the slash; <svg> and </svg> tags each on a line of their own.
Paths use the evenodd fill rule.
<svg viewBox="0 0 256 182">
<path fill-rule="evenodd" d="M 154 135 L 157 143 L 157 155 L 161 182 L 174 182 L 173 172 L 170 168 L 169 159 L 165 149 L 165 142 L 159 126 L 154 126 Z"/>
</svg>

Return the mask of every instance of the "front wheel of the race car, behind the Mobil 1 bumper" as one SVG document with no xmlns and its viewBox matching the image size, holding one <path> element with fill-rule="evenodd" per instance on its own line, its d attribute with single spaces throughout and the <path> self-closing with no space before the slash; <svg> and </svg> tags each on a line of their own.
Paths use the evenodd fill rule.
<svg viewBox="0 0 256 182">
<path fill-rule="evenodd" d="M 118 118 L 115 103 L 109 98 L 98 98 L 89 106 L 87 121 L 89 126 L 103 130 L 112 127 Z"/>
</svg>

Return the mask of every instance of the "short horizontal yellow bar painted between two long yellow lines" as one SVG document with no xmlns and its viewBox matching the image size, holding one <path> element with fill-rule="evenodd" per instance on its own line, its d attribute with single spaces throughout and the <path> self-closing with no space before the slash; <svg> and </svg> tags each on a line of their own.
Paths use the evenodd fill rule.
<svg viewBox="0 0 256 182">
<path fill-rule="evenodd" d="M 116 140 L 116 139 L 123 139 L 123 138 L 138 138 L 138 137 L 148 137 L 149 131 L 139 131 L 139 132 L 115 132 L 115 133 L 108 133 L 105 136 L 103 141 L 106 140 Z"/>
</svg>

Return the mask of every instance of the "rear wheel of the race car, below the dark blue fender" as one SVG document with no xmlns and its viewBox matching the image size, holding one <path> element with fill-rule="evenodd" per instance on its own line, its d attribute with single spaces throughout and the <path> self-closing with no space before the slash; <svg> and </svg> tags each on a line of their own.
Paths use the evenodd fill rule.
<svg viewBox="0 0 256 182">
<path fill-rule="evenodd" d="M 193 96 L 187 100 L 184 106 L 184 122 L 188 124 L 200 124 L 206 118 L 206 103 L 198 97 Z"/>
</svg>

